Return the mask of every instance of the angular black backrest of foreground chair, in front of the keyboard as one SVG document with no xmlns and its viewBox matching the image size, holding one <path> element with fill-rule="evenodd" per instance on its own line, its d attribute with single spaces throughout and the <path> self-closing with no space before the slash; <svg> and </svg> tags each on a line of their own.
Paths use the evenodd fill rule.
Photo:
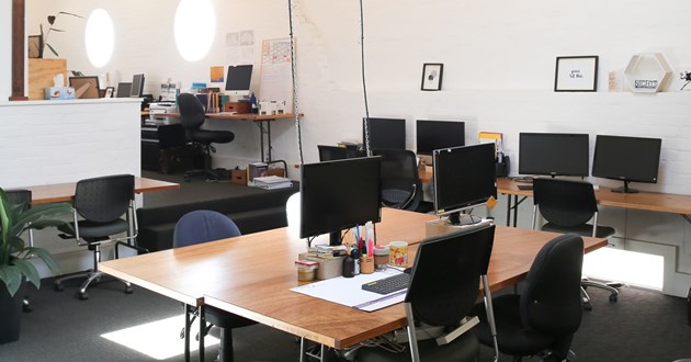
<svg viewBox="0 0 691 362">
<path fill-rule="evenodd" d="M 495 226 L 422 241 L 411 270 L 406 303 L 417 320 L 454 326 L 475 305 L 480 275 L 487 273 Z"/>
</svg>

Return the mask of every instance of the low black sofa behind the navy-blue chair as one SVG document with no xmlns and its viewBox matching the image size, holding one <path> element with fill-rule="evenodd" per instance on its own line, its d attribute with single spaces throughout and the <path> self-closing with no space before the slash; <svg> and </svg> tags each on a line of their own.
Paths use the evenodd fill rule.
<svg viewBox="0 0 691 362">
<path fill-rule="evenodd" d="M 234 197 L 197 201 L 161 207 L 141 207 L 137 210 L 139 247 L 149 251 L 172 248 L 175 224 L 182 215 L 195 210 L 213 210 L 233 219 L 240 231 L 251 234 L 287 226 L 285 203 L 299 191 L 292 188 L 267 190 L 260 193 Z"/>
</svg>

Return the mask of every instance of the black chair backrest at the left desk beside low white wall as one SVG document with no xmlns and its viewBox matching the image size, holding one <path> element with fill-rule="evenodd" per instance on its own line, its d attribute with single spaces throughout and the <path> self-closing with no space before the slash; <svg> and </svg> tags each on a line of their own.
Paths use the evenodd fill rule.
<svg viewBox="0 0 691 362">
<path fill-rule="evenodd" d="M 77 182 L 73 206 L 83 218 L 110 223 L 127 212 L 134 200 L 134 176 L 114 174 Z"/>
</svg>

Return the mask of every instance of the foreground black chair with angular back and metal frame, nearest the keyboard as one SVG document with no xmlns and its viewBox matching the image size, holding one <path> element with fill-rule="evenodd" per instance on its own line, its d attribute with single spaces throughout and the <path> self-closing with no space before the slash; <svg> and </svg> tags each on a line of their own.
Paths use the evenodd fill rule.
<svg viewBox="0 0 691 362">
<path fill-rule="evenodd" d="M 477 301 L 480 276 L 487 274 L 494 239 L 495 226 L 487 225 L 423 240 L 404 302 L 410 351 L 362 347 L 356 360 L 478 361 L 479 344 L 467 330 L 477 320 L 466 316 Z"/>
</svg>

